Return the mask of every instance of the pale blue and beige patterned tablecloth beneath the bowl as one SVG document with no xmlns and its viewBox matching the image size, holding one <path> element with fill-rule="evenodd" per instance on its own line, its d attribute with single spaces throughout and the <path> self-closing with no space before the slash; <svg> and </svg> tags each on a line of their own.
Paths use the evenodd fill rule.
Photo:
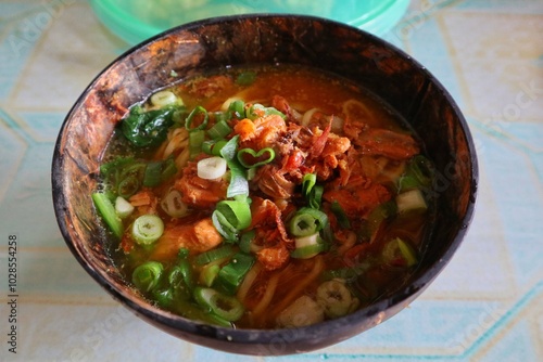
<svg viewBox="0 0 543 362">
<path fill-rule="evenodd" d="M 465 243 L 379 326 L 308 354 L 236 360 L 542 361 L 543 1 L 412 1 L 384 38 L 446 86 L 472 130 L 480 184 Z M 134 318 L 59 232 L 50 184 L 59 128 L 127 48 L 84 1 L 0 2 L 1 361 L 233 358 Z"/>
</svg>

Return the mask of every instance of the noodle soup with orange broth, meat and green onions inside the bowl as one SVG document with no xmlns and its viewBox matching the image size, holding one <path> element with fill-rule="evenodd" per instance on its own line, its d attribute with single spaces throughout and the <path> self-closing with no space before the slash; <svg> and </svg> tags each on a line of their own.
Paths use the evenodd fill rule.
<svg viewBox="0 0 543 362">
<path fill-rule="evenodd" d="M 421 150 L 345 79 L 228 68 L 130 107 L 92 198 L 115 263 L 159 307 L 304 326 L 375 302 L 417 267 L 433 210 Z"/>
</svg>

